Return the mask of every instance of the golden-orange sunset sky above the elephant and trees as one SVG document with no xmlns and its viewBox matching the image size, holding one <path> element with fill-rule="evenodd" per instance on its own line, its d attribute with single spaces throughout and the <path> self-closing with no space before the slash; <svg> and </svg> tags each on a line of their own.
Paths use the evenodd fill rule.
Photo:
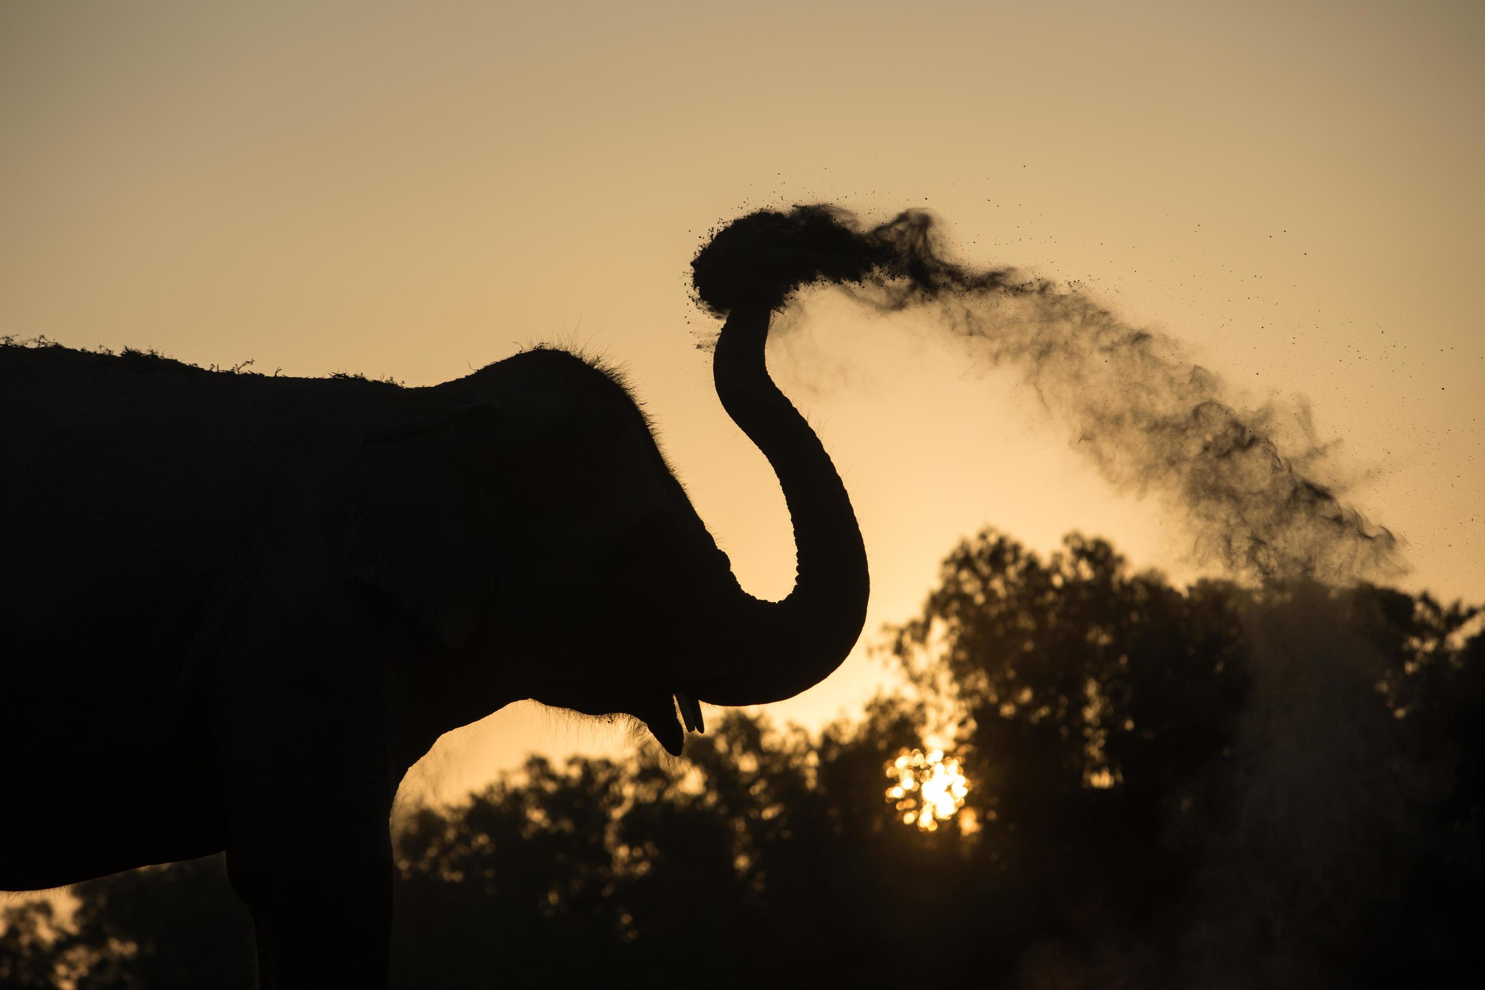
<svg viewBox="0 0 1485 990">
<path fill-rule="evenodd" d="M 716 401 L 688 264 L 760 206 L 922 206 L 961 260 L 1181 338 L 1234 401 L 1308 399 L 1314 475 L 1405 539 L 1399 583 L 1481 601 L 1482 95 L 1473 1 L 7 3 L 0 334 L 410 386 L 579 346 L 780 597 L 783 497 Z M 861 518 L 863 644 L 986 524 L 1198 573 L 1013 376 L 912 316 L 805 309 L 771 367 Z M 885 677 L 858 649 L 772 711 L 818 724 Z M 627 745 L 512 707 L 419 781 Z"/>
</svg>

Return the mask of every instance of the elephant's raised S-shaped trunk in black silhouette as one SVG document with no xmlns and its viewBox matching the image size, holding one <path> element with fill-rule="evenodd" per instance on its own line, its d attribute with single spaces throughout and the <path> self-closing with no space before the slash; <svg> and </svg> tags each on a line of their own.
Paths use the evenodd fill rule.
<svg viewBox="0 0 1485 990">
<path fill-rule="evenodd" d="M 713 361 L 717 398 L 768 457 L 794 528 L 794 588 L 783 601 L 740 589 L 725 622 L 723 678 L 696 686 L 714 705 L 762 705 L 818 684 L 866 622 L 866 546 L 841 475 L 820 438 L 768 376 L 768 309 L 734 310 Z"/>
</svg>

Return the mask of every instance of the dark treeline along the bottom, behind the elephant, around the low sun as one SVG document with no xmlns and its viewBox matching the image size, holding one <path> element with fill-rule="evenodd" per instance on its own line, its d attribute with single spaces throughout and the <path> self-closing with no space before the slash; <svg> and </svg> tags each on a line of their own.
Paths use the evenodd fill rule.
<svg viewBox="0 0 1485 990">
<path fill-rule="evenodd" d="M 394 986 L 1485 986 L 1476 619 L 982 533 L 882 647 L 913 690 L 857 721 L 713 714 L 685 760 L 532 758 L 408 812 Z M 930 732 L 970 785 L 933 831 L 887 797 Z M 3 910 L 0 986 L 252 986 L 220 859 L 74 894 Z"/>
</svg>

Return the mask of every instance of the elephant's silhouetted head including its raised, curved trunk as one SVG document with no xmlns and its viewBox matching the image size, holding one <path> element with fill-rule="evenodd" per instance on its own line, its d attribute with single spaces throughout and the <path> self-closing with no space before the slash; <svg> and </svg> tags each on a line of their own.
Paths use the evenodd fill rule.
<svg viewBox="0 0 1485 990">
<path fill-rule="evenodd" d="M 713 374 L 784 491 L 797 557 L 783 601 L 741 589 L 616 377 L 563 352 L 438 386 L 446 411 L 365 445 L 350 567 L 432 634 L 431 663 L 462 671 L 425 692 L 437 732 L 535 698 L 630 714 L 679 754 L 680 721 L 702 730 L 698 701 L 781 701 L 841 665 L 866 619 L 866 549 L 830 457 L 768 376 L 768 309 L 732 312 Z"/>
</svg>

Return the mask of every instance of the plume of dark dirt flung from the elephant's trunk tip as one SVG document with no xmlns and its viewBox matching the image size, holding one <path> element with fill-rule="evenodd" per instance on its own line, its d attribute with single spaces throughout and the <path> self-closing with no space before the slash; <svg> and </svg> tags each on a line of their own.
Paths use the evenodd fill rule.
<svg viewBox="0 0 1485 990">
<path fill-rule="evenodd" d="M 787 307 L 805 286 L 882 312 L 925 309 L 974 358 L 1019 370 L 1117 490 L 1176 506 L 1197 561 L 1256 580 L 1344 583 L 1405 570 L 1391 531 L 1307 475 L 1323 457 L 1307 430 L 1302 450 L 1282 450 L 1276 408 L 1237 408 L 1173 337 L 1014 269 L 950 261 L 933 214 L 870 227 L 830 205 L 753 212 L 714 232 L 692 282 L 719 316 Z"/>
</svg>

